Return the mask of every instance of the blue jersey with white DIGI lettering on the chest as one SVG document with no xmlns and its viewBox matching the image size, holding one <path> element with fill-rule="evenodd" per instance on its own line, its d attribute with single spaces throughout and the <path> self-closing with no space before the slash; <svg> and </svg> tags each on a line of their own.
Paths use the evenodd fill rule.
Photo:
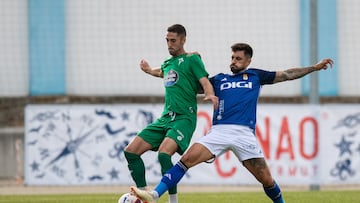
<svg viewBox="0 0 360 203">
<path fill-rule="evenodd" d="M 217 74 L 210 78 L 219 97 L 213 125 L 236 124 L 255 129 L 256 106 L 262 85 L 272 84 L 276 72 L 249 68 L 238 74 Z"/>
</svg>

